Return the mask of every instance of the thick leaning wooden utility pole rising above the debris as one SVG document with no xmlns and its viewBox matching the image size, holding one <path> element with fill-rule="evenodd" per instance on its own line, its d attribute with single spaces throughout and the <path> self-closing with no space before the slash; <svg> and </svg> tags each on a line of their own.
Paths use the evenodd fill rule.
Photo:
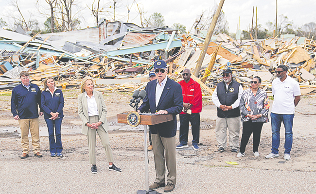
<svg viewBox="0 0 316 194">
<path fill-rule="evenodd" d="M 203 44 L 203 48 L 202 48 L 202 51 L 201 51 L 201 54 L 199 56 L 199 59 L 197 61 L 197 64 L 196 64 L 196 67 L 195 67 L 195 71 L 194 71 L 194 76 L 195 77 L 198 77 L 199 75 L 199 72 L 200 72 L 200 69 L 201 69 L 201 65 L 202 65 L 202 62 L 204 60 L 204 57 L 205 57 L 205 53 L 209 47 L 209 44 L 210 44 L 210 41 L 211 41 L 211 36 L 213 34 L 213 31 L 215 29 L 215 25 L 217 23 L 217 19 L 222 11 L 222 7 L 223 7 L 223 4 L 224 4 L 224 1 L 225 0 L 221 0 L 218 4 L 218 8 L 215 12 L 215 15 L 213 16 L 213 19 L 212 19 L 212 22 L 211 22 L 211 25 L 210 25 L 210 28 L 209 28 L 209 31 L 206 35 L 206 38 L 205 38 L 205 41 L 204 41 L 204 44 Z"/>
</svg>

